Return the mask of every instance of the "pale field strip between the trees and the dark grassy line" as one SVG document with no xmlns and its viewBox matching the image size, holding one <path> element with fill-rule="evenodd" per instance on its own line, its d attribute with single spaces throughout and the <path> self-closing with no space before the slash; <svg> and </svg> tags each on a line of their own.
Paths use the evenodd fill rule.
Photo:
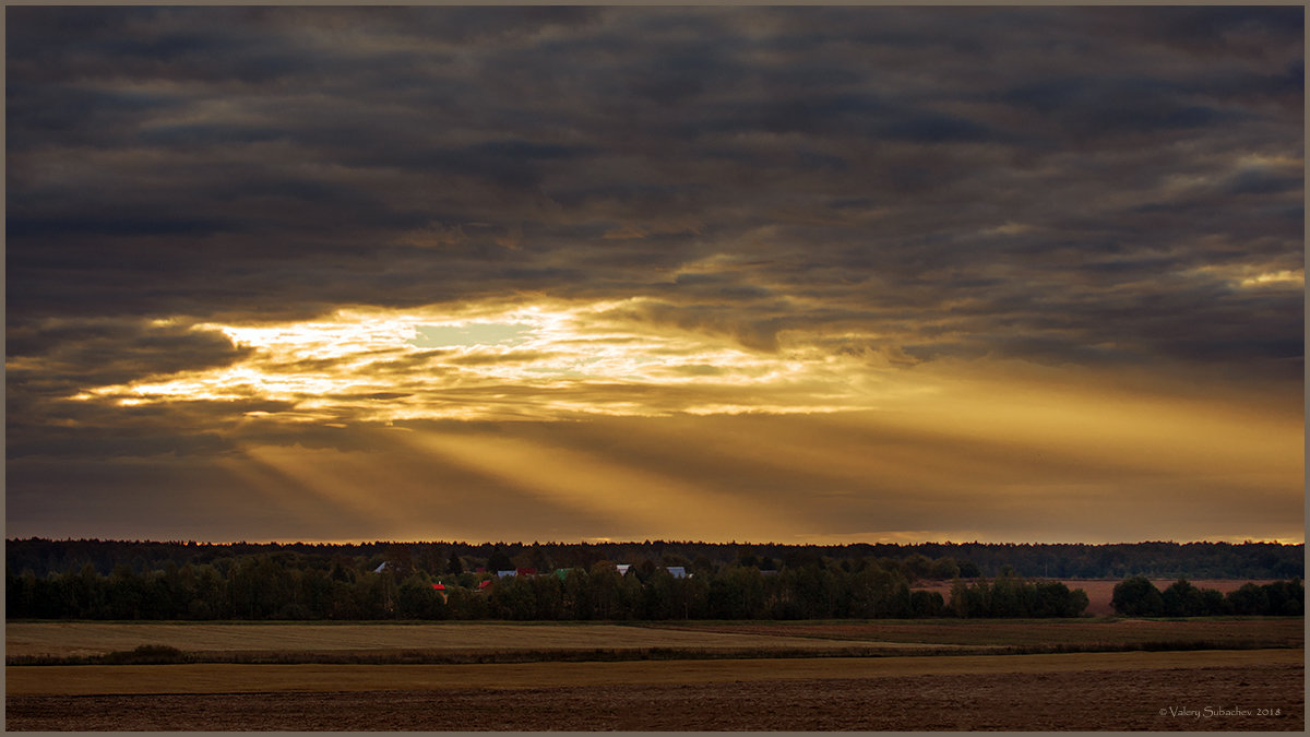
<svg viewBox="0 0 1310 737">
<path fill-rule="evenodd" d="M 10 665 L 79 665 L 141 645 L 236 664 L 458 664 L 703 657 L 1305 647 L 1296 619 L 921 619 L 574 623 L 9 623 Z M 178 658 L 183 656 L 177 656 Z M 119 660 L 118 664 L 131 661 Z M 147 661 L 148 662 L 148 661 Z M 156 661 L 157 662 L 157 661 Z"/>
</svg>

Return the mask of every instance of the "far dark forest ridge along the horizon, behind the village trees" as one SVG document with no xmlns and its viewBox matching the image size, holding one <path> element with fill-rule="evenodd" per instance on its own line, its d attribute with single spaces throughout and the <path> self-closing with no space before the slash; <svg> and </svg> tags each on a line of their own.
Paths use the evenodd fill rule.
<svg viewBox="0 0 1310 737">
<path fill-rule="evenodd" d="M 7 540 L 7 567 L 16 573 L 31 570 L 38 578 L 51 573 L 80 572 L 90 565 L 110 574 L 121 565 L 135 573 L 162 570 L 169 563 L 178 568 L 216 564 L 223 559 L 262 553 L 295 553 L 316 560 L 342 559 L 355 567 L 376 567 L 397 547 L 407 551 L 414 564 L 428 573 L 440 573 L 451 556 L 464 567 L 489 567 L 493 556 L 503 555 L 511 567 L 590 569 L 601 560 L 639 564 L 684 565 L 710 574 L 726 565 L 753 565 L 761 570 L 817 564 L 852 565 L 858 560 L 895 560 L 909 578 L 996 577 L 1009 567 L 1030 578 L 1303 578 L 1305 546 L 1276 543 L 1124 543 L 1124 544 L 1002 544 L 1002 543 L 924 543 L 782 546 L 693 542 L 645 543 L 460 543 L 427 542 L 397 546 L 376 542 L 363 544 L 313 543 L 194 543 L 127 540 L 48 540 L 41 538 Z M 669 563 L 672 561 L 672 563 Z M 751 563 L 753 561 L 753 563 Z M 941 563 L 939 563 L 941 561 Z M 772 568 L 770 568 L 772 567 Z M 935 568 L 934 568 L 935 567 Z M 954 567 L 954 568 L 952 568 Z"/>
</svg>

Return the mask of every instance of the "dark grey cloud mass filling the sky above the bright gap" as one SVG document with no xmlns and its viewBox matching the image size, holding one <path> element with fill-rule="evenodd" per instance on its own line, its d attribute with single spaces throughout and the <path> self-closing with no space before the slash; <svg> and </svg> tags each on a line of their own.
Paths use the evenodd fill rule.
<svg viewBox="0 0 1310 737">
<path fill-rule="evenodd" d="M 152 317 L 516 292 L 646 296 L 631 317 L 761 351 L 862 332 L 883 337 L 814 341 L 1252 380 L 1300 355 L 1301 294 L 1238 286 L 1302 269 L 1300 8 L 10 8 L 7 28 L 9 355 L 45 376 L 9 383 L 33 426 L 56 389 L 237 358 Z"/>
</svg>

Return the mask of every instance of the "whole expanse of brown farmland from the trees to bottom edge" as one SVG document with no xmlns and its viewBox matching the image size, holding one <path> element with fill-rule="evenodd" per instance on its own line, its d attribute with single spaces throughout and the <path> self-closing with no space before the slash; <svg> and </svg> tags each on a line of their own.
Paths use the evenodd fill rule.
<svg viewBox="0 0 1310 737">
<path fill-rule="evenodd" d="M 212 656 L 182 665 L 9 665 L 12 730 L 1300 730 L 1305 724 L 1302 619 L 12 623 L 5 635 L 10 658 L 141 644 Z M 1089 652 L 1024 649 L 1039 645 Z M 837 657 L 861 647 L 882 657 Z M 652 657 L 654 649 L 665 657 Z M 303 662 L 212 662 L 224 653 L 274 650 L 299 653 Z M 597 650 L 607 657 L 587 657 Z M 352 665 L 321 657 L 400 652 L 511 660 Z"/>
</svg>

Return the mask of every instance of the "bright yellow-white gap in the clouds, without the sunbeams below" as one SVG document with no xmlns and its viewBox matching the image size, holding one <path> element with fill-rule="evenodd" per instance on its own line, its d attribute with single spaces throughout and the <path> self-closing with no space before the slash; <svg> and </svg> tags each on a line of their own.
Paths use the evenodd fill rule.
<svg viewBox="0 0 1310 737">
<path fill-rule="evenodd" d="M 203 323 L 236 362 L 89 387 L 72 399 L 140 407 L 267 400 L 316 422 L 562 420 L 596 414 L 833 412 L 869 405 L 857 358 L 804 341 L 778 351 L 634 319 L 641 300 L 460 311 L 347 308 L 316 320 Z M 855 376 L 855 379 L 853 379 Z M 253 409 L 267 416 L 267 409 Z"/>
</svg>

